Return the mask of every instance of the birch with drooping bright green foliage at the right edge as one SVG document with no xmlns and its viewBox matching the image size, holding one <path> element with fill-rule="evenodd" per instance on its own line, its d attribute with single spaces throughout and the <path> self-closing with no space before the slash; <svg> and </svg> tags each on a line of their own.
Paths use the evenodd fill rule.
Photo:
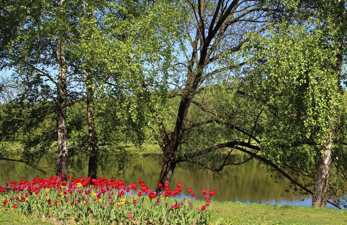
<svg viewBox="0 0 347 225">
<path fill-rule="evenodd" d="M 253 98 L 264 104 L 268 122 L 258 142 L 262 155 L 255 157 L 290 179 L 295 191 L 299 187 L 312 194 L 312 206 L 317 207 L 327 204 L 331 154 L 345 157 L 341 126 L 346 99 L 340 86 L 345 31 L 344 20 L 336 16 L 343 11 L 341 4 L 330 3 L 332 13 L 327 7 L 319 9 L 316 20 L 308 20 L 306 26 L 285 25 L 269 37 L 255 36 L 244 54 L 257 66 L 247 80 Z M 345 164 L 334 160 L 334 166 L 337 180 L 329 192 L 343 197 Z"/>
</svg>

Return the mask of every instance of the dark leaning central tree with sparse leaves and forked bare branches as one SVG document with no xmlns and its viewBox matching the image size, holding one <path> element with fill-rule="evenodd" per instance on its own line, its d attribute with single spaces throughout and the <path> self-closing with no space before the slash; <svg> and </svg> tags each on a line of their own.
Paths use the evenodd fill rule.
<svg viewBox="0 0 347 225">
<path fill-rule="evenodd" d="M 254 137 L 246 132 L 249 126 L 242 127 L 247 123 L 247 112 L 231 110 L 223 112 L 227 115 L 219 114 L 217 110 L 223 109 L 217 109 L 212 101 L 209 102 L 211 104 L 206 104 L 210 99 L 205 90 L 211 87 L 210 90 L 216 93 L 219 91 L 218 94 L 221 94 L 223 89 L 218 89 L 218 84 L 222 86 L 222 82 L 226 81 L 231 86 L 232 73 L 236 73 L 243 65 L 238 61 L 237 55 L 242 45 L 248 41 L 245 38 L 246 33 L 255 31 L 262 34 L 266 27 L 278 23 L 281 18 L 290 18 L 291 11 L 277 1 L 266 4 L 257 1 L 187 1 L 186 8 L 189 13 L 188 19 L 184 21 L 187 39 L 181 39 L 179 42 L 181 55 L 186 57 L 186 60 L 177 63 L 171 74 L 162 73 L 162 81 L 168 82 L 174 89 L 171 89 L 171 93 L 167 91 L 168 87 L 154 91 L 151 96 L 156 97 L 147 100 L 152 115 L 150 128 L 163 151 L 159 183 L 169 185 L 177 163 L 196 163 L 194 159 L 203 155 L 218 155 L 216 151 L 219 150 L 221 153 L 225 147 L 230 147 L 229 144 L 234 147 L 242 145 L 242 139 L 237 137 L 239 134 Z M 185 46 L 187 43 L 189 47 Z M 146 83 L 145 87 L 150 89 L 151 84 Z M 172 100 L 175 98 L 179 100 Z M 162 107 L 163 103 L 172 102 L 177 102 L 177 105 L 168 107 L 169 110 L 165 111 L 167 108 Z M 209 114 L 210 118 L 191 121 L 188 117 L 191 103 L 202 113 Z M 165 118 L 167 116 L 171 117 L 171 121 Z M 212 131 L 217 124 L 221 130 L 227 130 L 228 135 L 219 140 L 199 136 L 201 129 Z M 234 141 L 217 142 L 232 138 Z M 201 143 L 194 148 L 193 143 L 197 140 Z M 163 192 L 164 186 L 158 186 L 156 191 Z"/>
</svg>

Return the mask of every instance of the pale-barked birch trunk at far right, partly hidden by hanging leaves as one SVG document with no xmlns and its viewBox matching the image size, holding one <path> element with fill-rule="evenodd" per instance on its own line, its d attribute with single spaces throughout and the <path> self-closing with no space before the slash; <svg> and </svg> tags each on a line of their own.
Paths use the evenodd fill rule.
<svg viewBox="0 0 347 225">
<path fill-rule="evenodd" d="M 342 23 L 345 23 L 343 18 L 344 9 L 345 9 L 345 0 L 337 0 L 337 11 L 336 18 L 339 24 L 337 26 L 341 27 Z M 339 37 L 336 38 L 336 47 L 338 53 L 336 55 L 337 62 L 336 65 L 333 66 L 334 71 L 338 75 L 338 86 L 340 85 L 340 74 L 341 74 L 341 65 L 342 65 L 342 44 L 343 44 L 343 36 L 340 33 Z M 335 103 L 334 103 L 335 107 Z M 327 194 L 328 194 L 328 184 L 329 184 L 329 170 L 330 170 L 330 161 L 331 161 L 331 147 L 332 147 L 332 135 L 333 135 L 333 123 L 334 116 L 330 120 L 331 132 L 329 137 L 327 138 L 327 143 L 321 147 L 324 151 L 322 157 L 320 157 L 318 161 L 318 171 L 316 176 L 316 183 L 314 185 L 313 197 L 312 197 L 312 206 L 325 208 L 327 207 Z"/>
</svg>

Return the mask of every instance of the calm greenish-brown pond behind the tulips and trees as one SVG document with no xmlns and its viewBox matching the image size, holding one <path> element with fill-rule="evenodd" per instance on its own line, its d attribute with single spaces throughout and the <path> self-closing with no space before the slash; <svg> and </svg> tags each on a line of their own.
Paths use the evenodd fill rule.
<svg viewBox="0 0 347 225">
<path fill-rule="evenodd" d="M 137 183 L 138 179 L 143 179 L 149 189 L 155 189 L 160 168 L 161 155 L 143 154 L 134 157 L 134 161 L 130 162 L 124 175 L 118 175 L 116 170 L 109 170 L 107 172 L 98 171 L 98 176 L 107 179 L 121 179 L 125 184 Z M 2 186 L 10 180 L 32 180 L 32 178 L 46 178 L 55 175 L 54 171 L 43 175 L 40 171 L 31 167 L 25 168 L 24 164 L 12 161 L 2 161 L 0 170 L 2 171 L 0 177 L 0 185 Z M 79 168 L 71 171 L 74 177 L 87 176 L 87 172 L 87 166 L 79 166 Z M 187 190 L 191 188 L 196 193 L 195 198 L 203 197 L 201 190 L 206 189 L 217 191 L 214 200 L 218 201 L 311 206 L 312 199 L 308 196 L 294 195 L 292 190 L 285 192 L 285 189 L 290 186 L 290 182 L 284 177 L 275 179 L 276 175 L 268 173 L 265 165 L 256 160 L 243 165 L 227 166 L 219 175 L 210 171 L 187 170 L 177 166 L 172 177 L 171 189 L 175 189 L 176 183 L 180 182 L 183 191 L 179 198 L 188 195 Z M 328 204 L 328 207 L 332 206 Z"/>
</svg>

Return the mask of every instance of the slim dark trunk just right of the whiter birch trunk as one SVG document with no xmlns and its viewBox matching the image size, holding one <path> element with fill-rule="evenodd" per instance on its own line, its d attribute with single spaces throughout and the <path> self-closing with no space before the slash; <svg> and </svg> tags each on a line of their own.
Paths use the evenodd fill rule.
<svg viewBox="0 0 347 225">
<path fill-rule="evenodd" d="M 90 146 L 90 156 L 88 163 L 88 177 L 96 179 L 96 171 L 98 169 L 98 136 L 94 128 L 93 107 L 91 103 L 94 101 L 94 90 L 91 76 L 87 77 L 87 124 L 88 124 L 88 136 Z"/>
</svg>

